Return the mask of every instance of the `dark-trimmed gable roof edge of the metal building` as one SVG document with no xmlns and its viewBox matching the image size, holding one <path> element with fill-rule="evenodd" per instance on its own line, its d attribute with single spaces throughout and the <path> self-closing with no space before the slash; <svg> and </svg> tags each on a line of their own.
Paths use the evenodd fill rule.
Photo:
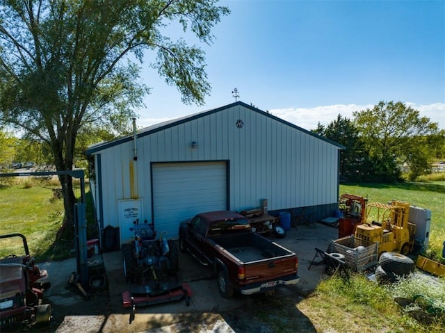
<svg viewBox="0 0 445 333">
<path fill-rule="evenodd" d="M 340 145 L 339 143 L 335 143 L 332 140 L 329 140 L 327 138 L 323 138 L 323 136 L 318 136 L 316 133 L 312 133 L 311 131 L 307 131 L 307 129 L 303 129 L 302 127 L 297 126 L 296 124 L 292 124 L 291 122 L 287 122 L 286 120 L 283 120 L 275 115 L 272 115 L 270 113 L 267 113 L 265 111 L 261 111 L 259 108 L 255 108 L 254 106 L 250 106 L 248 104 L 245 104 L 242 101 L 236 101 L 232 104 L 227 104 L 225 106 L 220 106 L 219 108 L 212 108 L 210 110 L 201 111 L 199 113 L 194 113 L 193 115 L 186 115 L 184 117 L 175 118 L 172 120 L 168 120 L 166 122 L 160 122 L 159 124 L 154 124 L 149 127 L 145 127 L 143 129 L 140 129 L 136 133 L 136 138 L 142 138 L 143 136 L 148 136 L 152 133 L 156 133 L 158 131 L 163 131 L 164 129 L 168 129 L 170 127 L 175 127 L 179 124 L 184 124 L 185 122 L 190 122 L 191 120 L 195 120 L 200 117 L 204 117 L 206 115 L 211 115 L 212 113 L 217 113 L 220 111 L 223 111 L 227 108 L 232 108 L 234 106 L 243 106 L 245 108 L 248 108 L 254 112 L 261 113 L 261 115 L 265 115 L 266 117 L 270 117 L 274 120 L 277 120 L 277 122 L 282 122 L 283 124 L 286 124 L 290 127 L 293 127 L 294 129 L 297 129 L 298 131 L 305 132 L 309 134 L 310 136 L 314 136 L 320 140 L 326 141 L 327 143 L 330 143 L 332 145 L 335 145 L 339 147 L 340 149 L 346 149 L 343 145 Z M 124 136 L 123 138 L 118 138 L 116 140 L 107 141 L 105 143 L 97 143 L 95 145 L 91 145 L 88 149 L 86 149 L 86 154 L 94 154 L 95 152 L 99 152 L 100 150 L 107 149 L 110 147 L 114 147 L 116 145 L 120 145 L 122 143 L 127 143 L 128 141 L 133 140 L 133 135 Z"/>
</svg>

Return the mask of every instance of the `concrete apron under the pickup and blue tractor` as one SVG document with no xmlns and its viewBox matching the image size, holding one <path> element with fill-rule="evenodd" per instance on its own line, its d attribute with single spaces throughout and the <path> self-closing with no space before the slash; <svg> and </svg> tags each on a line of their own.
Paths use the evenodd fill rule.
<svg viewBox="0 0 445 333">
<path fill-rule="evenodd" d="M 316 254 L 315 247 L 326 250 L 332 239 L 336 239 L 338 229 L 320 223 L 313 226 L 291 228 L 285 238 L 268 238 L 296 252 L 299 258 L 298 275 L 300 282 L 296 286 L 279 289 L 275 297 L 280 295 L 308 295 L 316 288 L 318 282 L 325 277 L 324 266 L 309 264 Z M 67 280 L 76 270 L 76 260 L 41 263 L 40 268 L 47 269 L 51 288 L 45 291 L 45 298 L 57 307 L 72 307 L 72 315 L 65 316 L 53 332 L 181 332 L 186 327 L 191 332 L 233 332 L 220 311 L 229 311 L 252 305 L 252 297 L 235 293 L 231 299 L 223 298 L 218 292 L 215 277 L 209 268 L 197 263 L 190 255 L 179 251 L 179 281 L 187 282 L 193 291 L 190 306 L 184 300 L 139 307 L 136 317 L 129 324 L 129 309 L 122 307 L 122 292 L 128 290 L 122 270 L 122 252 L 106 252 L 102 254 L 108 293 L 111 301 L 109 316 L 95 314 L 76 315 L 77 307 L 88 307 L 88 302 L 80 292 L 67 289 Z M 320 258 L 316 258 L 318 261 Z M 92 309 L 93 310 L 93 309 Z M 163 327 L 162 329 L 159 327 Z M 182 327 L 182 328 L 181 328 Z"/>
</svg>

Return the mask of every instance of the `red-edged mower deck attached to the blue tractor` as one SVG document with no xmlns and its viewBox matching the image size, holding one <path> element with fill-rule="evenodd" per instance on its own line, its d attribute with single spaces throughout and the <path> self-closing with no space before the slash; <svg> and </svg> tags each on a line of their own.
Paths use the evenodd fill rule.
<svg viewBox="0 0 445 333">
<path fill-rule="evenodd" d="M 129 291 L 122 293 L 122 302 L 124 307 L 146 307 L 183 298 L 188 303 L 191 295 L 191 287 L 186 283 L 162 282 L 158 286 L 154 283 L 135 284 L 130 286 Z"/>
</svg>

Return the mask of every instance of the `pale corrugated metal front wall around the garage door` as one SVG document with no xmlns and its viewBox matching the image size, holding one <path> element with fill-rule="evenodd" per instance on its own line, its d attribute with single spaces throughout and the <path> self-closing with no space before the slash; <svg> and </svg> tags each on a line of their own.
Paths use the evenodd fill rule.
<svg viewBox="0 0 445 333">
<path fill-rule="evenodd" d="M 339 147 L 242 105 L 142 136 L 137 148 L 137 161 L 131 141 L 98 152 L 104 226 L 119 225 L 120 199 L 142 197 L 151 216 L 152 162 L 229 161 L 229 205 L 236 211 L 262 199 L 270 211 L 337 202 Z"/>
</svg>

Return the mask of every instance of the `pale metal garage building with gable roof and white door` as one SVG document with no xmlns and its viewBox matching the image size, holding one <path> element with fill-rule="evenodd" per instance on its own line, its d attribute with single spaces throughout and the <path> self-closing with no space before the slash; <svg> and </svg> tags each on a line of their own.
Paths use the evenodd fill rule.
<svg viewBox="0 0 445 333">
<path fill-rule="evenodd" d="M 314 220 L 338 207 L 344 147 L 242 101 L 156 124 L 90 147 L 90 186 L 101 231 L 127 243 L 133 221 L 176 239 L 203 211 L 270 214 L 305 209 Z M 108 228 L 109 229 L 109 228 Z"/>
</svg>

